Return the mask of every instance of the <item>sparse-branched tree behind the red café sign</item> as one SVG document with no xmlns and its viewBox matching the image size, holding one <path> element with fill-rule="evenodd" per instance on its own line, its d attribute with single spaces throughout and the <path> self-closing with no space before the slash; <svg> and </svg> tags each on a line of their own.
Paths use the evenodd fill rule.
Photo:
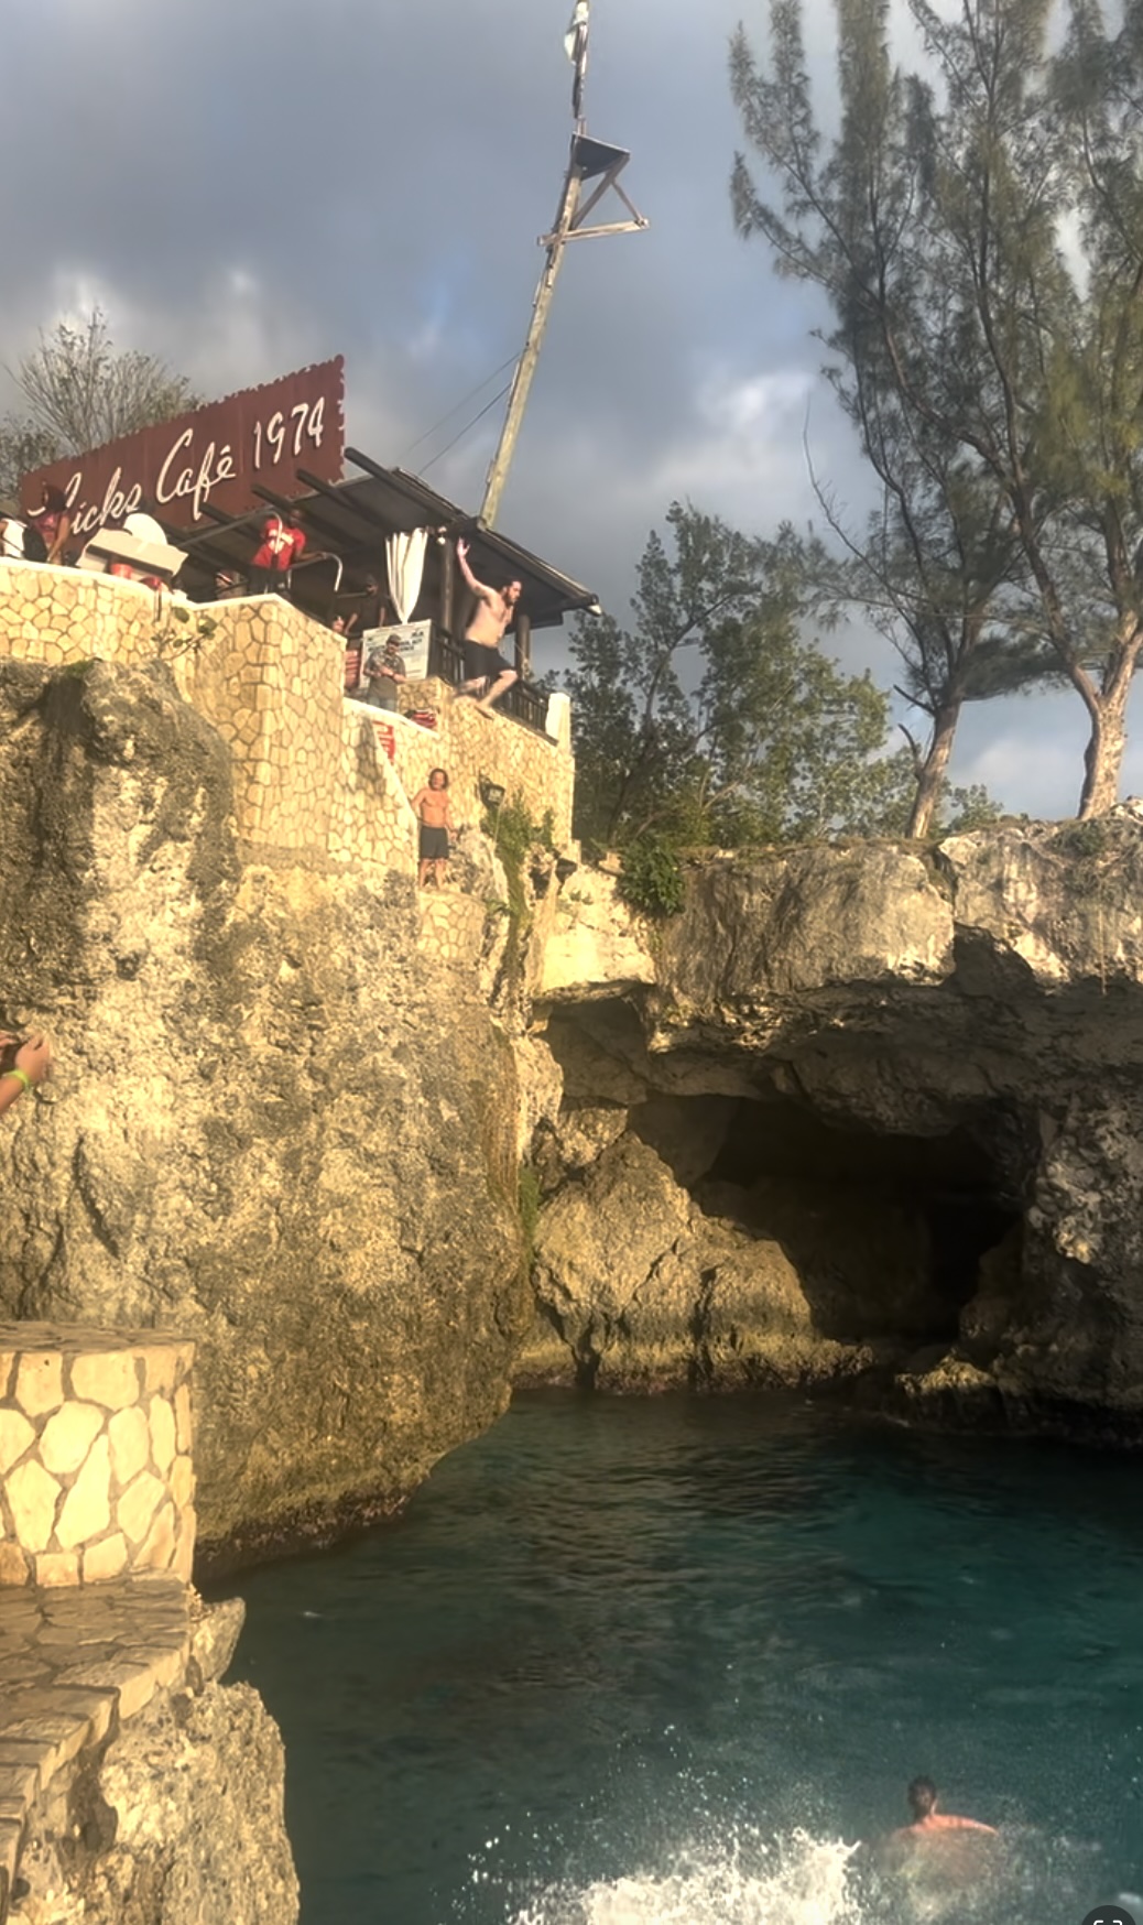
<svg viewBox="0 0 1143 1925">
<path fill-rule="evenodd" d="M 154 354 L 115 348 L 100 308 L 79 323 L 60 321 L 50 335 L 40 335 L 13 379 L 25 408 L 0 422 L 0 491 L 6 493 L 21 475 L 62 454 L 83 454 L 200 402 L 190 383 Z"/>
</svg>

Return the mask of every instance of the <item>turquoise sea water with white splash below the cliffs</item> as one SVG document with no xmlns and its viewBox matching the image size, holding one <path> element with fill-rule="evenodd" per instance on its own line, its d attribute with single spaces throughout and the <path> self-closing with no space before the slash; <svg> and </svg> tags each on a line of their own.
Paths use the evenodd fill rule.
<svg viewBox="0 0 1143 1925">
<path fill-rule="evenodd" d="M 398 1523 L 239 1584 L 304 1925 L 1080 1925 L 1143 1886 L 1141 1488 L 799 1401 L 520 1398 Z M 918 1771 L 999 1844 L 854 1850 Z"/>
</svg>

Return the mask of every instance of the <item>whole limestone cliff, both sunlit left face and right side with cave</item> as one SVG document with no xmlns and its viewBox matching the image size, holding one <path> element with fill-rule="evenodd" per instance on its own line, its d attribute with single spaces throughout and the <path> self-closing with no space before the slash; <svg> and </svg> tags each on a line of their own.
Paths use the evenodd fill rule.
<svg viewBox="0 0 1143 1925">
<path fill-rule="evenodd" d="M 0 1132 L 0 1315 L 198 1340 L 210 1553 L 383 1515 L 502 1409 L 521 1147 L 521 1380 L 1139 1432 L 1133 808 L 714 859 L 654 932 L 535 851 L 495 1020 L 408 878 L 237 839 L 162 666 L 0 664 L 0 1026 L 60 1063 Z"/>
</svg>

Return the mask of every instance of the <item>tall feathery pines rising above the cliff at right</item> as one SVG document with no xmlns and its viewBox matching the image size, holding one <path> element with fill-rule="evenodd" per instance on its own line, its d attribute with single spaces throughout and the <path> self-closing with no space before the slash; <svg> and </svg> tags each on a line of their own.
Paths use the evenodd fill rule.
<svg viewBox="0 0 1143 1925">
<path fill-rule="evenodd" d="M 908 8 L 912 73 L 883 0 L 839 0 L 827 150 L 799 0 L 774 0 L 766 65 L 739 31 L 731 87 L 781 204 L 739 156 L 735 219 L 829 302 L 831 379 L 883 489 L 851 579 L 933 722 L 918 807 L 962 701 L 1054 676 L 1087 708 L 1093 814 L 1143 647 L 1137 8 L 1112 40 L 1074 0 L 1058 58 L 1051 0 Z"/>
</svg>

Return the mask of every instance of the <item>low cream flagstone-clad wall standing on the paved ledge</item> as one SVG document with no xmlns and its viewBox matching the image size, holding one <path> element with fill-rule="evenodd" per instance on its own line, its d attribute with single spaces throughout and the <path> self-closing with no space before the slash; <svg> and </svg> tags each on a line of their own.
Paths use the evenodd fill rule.
<svg viewBox="0 0 1143 1925">
<path fill-rule="evenodd" d="M 0 1586 L 190 1578 L 194 1346 L 0 1324 Z"/>
</svg>

